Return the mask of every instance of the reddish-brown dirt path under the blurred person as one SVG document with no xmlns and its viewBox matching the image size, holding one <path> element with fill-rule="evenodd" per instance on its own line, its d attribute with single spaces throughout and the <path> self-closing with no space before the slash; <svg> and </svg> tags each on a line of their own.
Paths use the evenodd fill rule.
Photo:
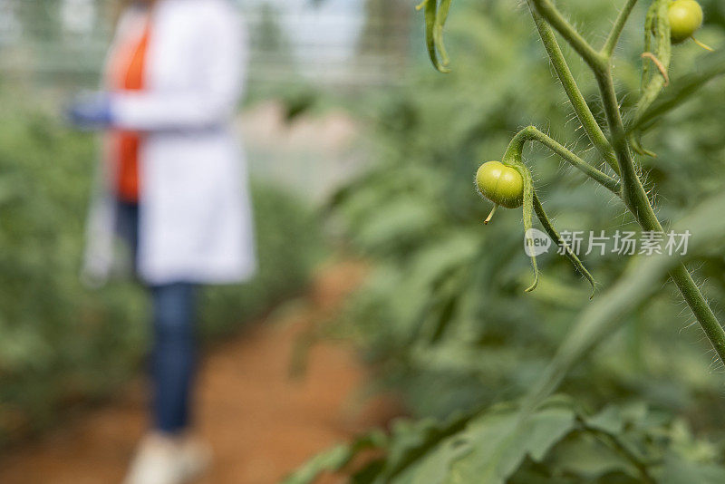
<svg viewBox="0 0 725 484">
<path fill-rule="evenodd" d="M 356 390 L 366 371 L 340 344 L 315 345 L 304 377 L 289 376 L 298 335 L 329 320 L 363 272 L 353 263 L 324 269 L 303 304 L 208 353 L 198 379 L 197 419 L 214 463 L 199 484 L 278 482 L 319 450 L 398 413 L 383 400 L 360 405 Z M 120 482 L 147 418 L 143 385 L 123 393 L 122 401 L 3 457 L 0 483 Z"/>
</svg>

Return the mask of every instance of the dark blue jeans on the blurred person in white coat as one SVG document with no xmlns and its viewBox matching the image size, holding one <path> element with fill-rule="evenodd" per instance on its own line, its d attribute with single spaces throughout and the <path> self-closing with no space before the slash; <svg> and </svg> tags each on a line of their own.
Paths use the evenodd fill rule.
<svg viewBox="0 0 725 484">
<path fill-rule="evenodd" d="M 118 202 L 116 231 L 129 244 L 135 261 L 139 245 L 138 205 Z M 196 286 L 179 281 L 150 286 L 149 290 L 153 306 L 153 425 L 157 431 L 178 433 L 189 427 L 190 420 L 191 384 L 196 368 Z"/>
</svg>

